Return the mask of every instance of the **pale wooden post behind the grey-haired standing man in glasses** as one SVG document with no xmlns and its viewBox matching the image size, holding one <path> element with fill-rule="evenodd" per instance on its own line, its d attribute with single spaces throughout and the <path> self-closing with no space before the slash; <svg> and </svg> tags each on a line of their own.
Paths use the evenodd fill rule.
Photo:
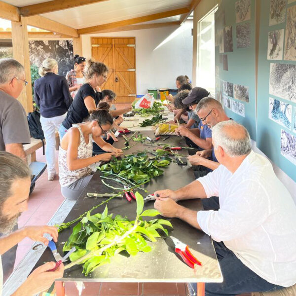
<svg viewBox="0 0 296 296">
<path fill-rule="evenodd" d="M 29 41 L 27 31 L 27 20 L 21 16 L 20 22 L 11 22 L 11 37 L 13 47 L 13 58 L 25 67 L 25 79 L 28 85 L 18 97 L 26 112 L 33 111 L 32 84 L 29 58 Z"/>
</svg>

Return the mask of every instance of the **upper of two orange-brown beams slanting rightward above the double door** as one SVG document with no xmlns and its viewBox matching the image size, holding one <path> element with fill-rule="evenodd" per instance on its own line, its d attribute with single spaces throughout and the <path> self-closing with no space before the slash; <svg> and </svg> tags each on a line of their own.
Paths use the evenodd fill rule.
<svg viewBox="0 0 296 296">
<path fill-rule="evenodd" d="M 124 20 L 124 21 L 118 21 L 118 22 L 114 22 L 114 23 L 78 29 L 78 34 L 80 35 L 80 34 L 100 33 L 103 30 L 110 30 L 113 28 L 149 22 L 149 21 L 158 20 L 158 19 L 162 19 L 162 18 L 166 18 L 166 17 L 171 17 L 171 16 L 175 16 L 175 15 L 180 15 L 180 14 L 184 14 L 184 13 L 188 13 L 188 12 L 189 12 L 189 8 L 184 7 L 184 8 L 180 8 L 180 9 L 159 12 L 159 13 L 150 14 L 150 15 L 146 15 L 146 16 L 140 16 L 140 17 Z"/>
</svg>

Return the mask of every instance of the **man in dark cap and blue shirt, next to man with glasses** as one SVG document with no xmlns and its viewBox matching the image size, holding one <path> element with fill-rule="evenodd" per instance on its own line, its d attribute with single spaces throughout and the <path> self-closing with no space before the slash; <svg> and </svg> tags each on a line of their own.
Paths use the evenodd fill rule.
<svg viewBox="0 0 296 296">
<path fill-rule="evenodd" d="M 189 105 L 189 108 L 192 110 L 192 112 L 194 112 L 194 109 L 196 108 L 199 101 L 202 98 L 209 96 L 209 94 L 210 93 L 202 87 L 194 87 L 192 90 L 190 90 L 187 98 L 185 98 L 182 103 L 184 105 Z M 181 125 L 178 129 L 176 129 L 176 134 L 185 136 L 199 148 L 212 148 L 212 131 L 208 126 L 203 125 L 201 121 L 199 122 L 197 128 L 190 130 Z"/>
</svg>

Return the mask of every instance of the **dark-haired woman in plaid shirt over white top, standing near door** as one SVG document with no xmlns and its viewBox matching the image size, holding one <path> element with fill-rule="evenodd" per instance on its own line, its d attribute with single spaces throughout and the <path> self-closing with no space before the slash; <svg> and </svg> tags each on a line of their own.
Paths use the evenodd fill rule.
<svg viewBox="0 0 296 296">
<path fill-rule="evenodd" d="M 74 69 L 66 74 L 66 79 L 68 81 L 69 90 L 72 98 L 75 97 L 78 89 L 84 83 L 84 68 L 86 62 L 84 57 L 79 57 L 78 54 L 74 55 Z"/>
</svg>

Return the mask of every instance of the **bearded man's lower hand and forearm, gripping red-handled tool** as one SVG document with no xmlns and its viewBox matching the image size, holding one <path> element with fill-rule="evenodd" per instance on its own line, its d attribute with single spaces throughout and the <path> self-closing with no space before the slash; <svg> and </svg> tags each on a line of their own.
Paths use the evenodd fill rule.
<svg viewBox="0 0 296 296">
<path fill-rule="evenodd" d="M 62 263 L 57 270 L 48 271 L 55 267 L 55 262 L 47 262 L 37 267 L 13 294 L 13 296 L 35 295 L 50 288 L 52 283 L 64 275 L 64 264 Z"/>
</svg>

